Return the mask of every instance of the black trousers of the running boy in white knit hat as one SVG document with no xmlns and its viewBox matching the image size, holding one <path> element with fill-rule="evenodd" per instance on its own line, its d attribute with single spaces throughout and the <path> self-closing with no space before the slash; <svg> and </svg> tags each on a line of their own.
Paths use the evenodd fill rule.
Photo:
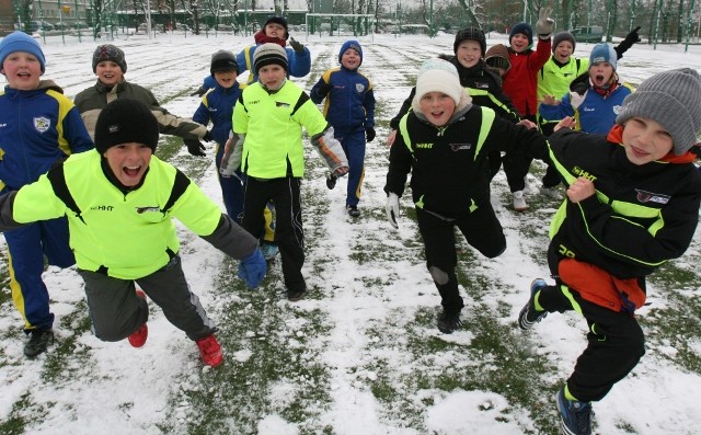
<svg viewBox="0 0 701 435">
<path fill-rule="evenodd" d="M 421 208 L 416 208 L 418 231 L 424 239 L 426 267 L 440 294 L 443 309 L 447 313 L 460 312 L 464 302 L 458 289 L 456 266 L 455 227 L 458 227 L 468 243 L 494 259 L 506 250 L 506 237 L 492 205 L 480 205 L 473 213 L 461 219 L 446 219 Z M 435 268 L 438 268 L 436 271 Z"/>
</svg>

